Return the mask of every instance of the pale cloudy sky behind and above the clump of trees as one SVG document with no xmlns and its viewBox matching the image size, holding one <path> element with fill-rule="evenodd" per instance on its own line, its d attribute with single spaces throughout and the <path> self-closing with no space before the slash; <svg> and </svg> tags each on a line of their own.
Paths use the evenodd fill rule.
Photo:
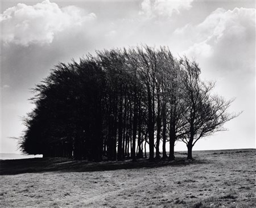
<svg viewBox="0 0 256 208">
<path fill-rule="evenodd" d="M 57 63 L 140 44 L 196 60 L 243 111 L 193 150 L 255 148 L 255 1 L 1 1 L 1 152 L 19 153 L 31 88 Z"/>
</svg>

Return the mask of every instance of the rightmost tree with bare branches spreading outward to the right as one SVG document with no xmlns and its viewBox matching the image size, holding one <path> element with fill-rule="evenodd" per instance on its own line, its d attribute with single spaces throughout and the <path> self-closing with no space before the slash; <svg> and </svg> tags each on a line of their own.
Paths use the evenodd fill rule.
<svg viewBox="0 0 256 208">
<path fill-rule="evenodd" d="M 192 148 L 199 139 L 217 131 L 226 130 L 223 125 L 237 117 L 228 113 L 233 100 L 225 100 L 218 95 L 210 95 L 213 83 L 200 80 L 198 64 L 190 62 L 186 57 L 181 59 L 184 70 L 183 77 L 183 116 L 187 121 L 187 130 L 182 141 L 188 148 L 188 159 L 192 159 Z"/>
</svg>

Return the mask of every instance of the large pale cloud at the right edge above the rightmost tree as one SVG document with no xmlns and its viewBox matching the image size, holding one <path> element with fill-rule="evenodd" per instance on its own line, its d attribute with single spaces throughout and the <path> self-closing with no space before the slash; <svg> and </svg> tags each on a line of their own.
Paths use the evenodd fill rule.
<svg viewBox="0 0 256 208">
<path fill-rule="evenodd" d="M 251 47 L 255 45 L 255 9 L 219 8 L 196 26 L 187 24 L 176 29 L 174 35 L 190 44 L 184 53 L 191 57 L 215 57 L 220 62 L 226 57 L 226 63 L 238 59 L 246 65 L 255 61 Z"/>
</svg>

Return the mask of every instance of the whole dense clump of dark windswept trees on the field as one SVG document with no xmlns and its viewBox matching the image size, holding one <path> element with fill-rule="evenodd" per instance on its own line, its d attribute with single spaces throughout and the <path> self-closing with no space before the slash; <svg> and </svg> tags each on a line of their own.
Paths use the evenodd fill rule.
<svg viewBox="0 0 256 208">
<path fill-rule="evenodd" d="M 151 160 L 174 160 L 179 140 L 192 159 L 200 138 L 237 116 L 226 112 L 232 100 L 212 95 L 213 87 L 195 61 L 177 60 L 165 47 L 97 51 L 59 63 L 34 88 L 20 148 L 94 161 L 136 160 L 147 151 Z"/>
</svg>

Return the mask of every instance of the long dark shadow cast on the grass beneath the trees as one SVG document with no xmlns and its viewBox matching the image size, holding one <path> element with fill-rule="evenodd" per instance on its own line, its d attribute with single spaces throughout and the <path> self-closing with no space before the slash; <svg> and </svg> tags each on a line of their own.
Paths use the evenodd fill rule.
<svg viewBox="0 0 256 208">
<path fill-rule="evenodd" d="M 72 160 L 68 158 L 31 158 L 18 160 L 0 160 L 0 175 L 15 175 L 20 173 L 38 172 L 93 172 L 113 171 L 117 169 L 157 168 L 163 166 L 184 166 L 209 163 L 208 160 L 186 160 L 177 157 L 175 161 L 138 159 L 113 162 L 88 162 L 87 160 Z"/>
</svg>

